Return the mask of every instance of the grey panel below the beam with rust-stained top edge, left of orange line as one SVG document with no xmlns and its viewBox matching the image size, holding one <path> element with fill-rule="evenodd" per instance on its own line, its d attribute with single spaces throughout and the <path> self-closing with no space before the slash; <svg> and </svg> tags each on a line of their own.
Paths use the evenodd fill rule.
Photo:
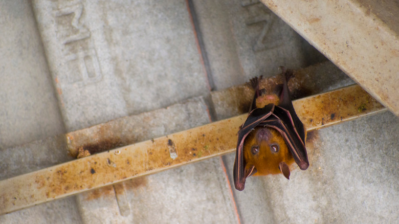
<svg viewBox="0 0 399 224">
<path fill-rule="evenodd" d="M 237 223 L 220 158 L 119 185 L 77 196 L 84 223 Z"/>
</svg>

